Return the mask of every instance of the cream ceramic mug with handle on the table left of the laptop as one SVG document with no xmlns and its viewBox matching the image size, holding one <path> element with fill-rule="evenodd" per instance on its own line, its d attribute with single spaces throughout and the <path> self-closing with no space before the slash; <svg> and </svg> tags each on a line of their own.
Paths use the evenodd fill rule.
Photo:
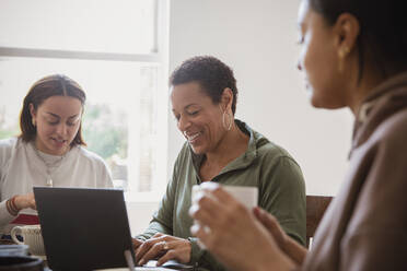
<svg viewBox="0 0 407 271">
<path fill-rule="evenodd" d="M 15 226 L 11 229 L 10 235 L 16 244 L 28 245 L 28 250 L 32 255 L 45 256 L 44 240 L 39 225 Z M 20 241 L 16 235 L 23 236 L 24 241 Z"/>
</svg>

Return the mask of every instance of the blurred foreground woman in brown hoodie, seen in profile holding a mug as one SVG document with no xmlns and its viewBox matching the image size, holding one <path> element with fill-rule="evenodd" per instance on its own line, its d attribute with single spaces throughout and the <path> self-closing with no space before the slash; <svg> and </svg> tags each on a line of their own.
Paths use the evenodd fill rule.
<svg viewBox="0 0 407 271">
<path fill-rule="evenodd" d="M 190 210 L 199 221 L 193 232 L 230 270 L 407 270 L 405 5 L 301 1 L 298 67 L 313 106 L 354 115 L 349 170 L 310 251 L 272 215 L 242 208 L 220 186 L 207 187 L 209 196 Z M 233 238 L 236 232 L 243 237 Z"/>
</svg>

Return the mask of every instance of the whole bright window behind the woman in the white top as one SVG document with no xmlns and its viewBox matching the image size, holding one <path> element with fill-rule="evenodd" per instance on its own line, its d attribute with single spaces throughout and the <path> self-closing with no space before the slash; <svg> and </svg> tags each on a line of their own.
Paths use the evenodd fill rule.
<svg viewBox="0 0 407 271">
<path fill-rule="evenodd" d="M 30 86 L 63 73 L 86 92 L 83 136 L 105 158 L 115 186 L 130 199 L 160 198 L 166 184 L 166 9 L 165 0 L 1 1 L 0 138 L 19 133 Z"/>
</svg>

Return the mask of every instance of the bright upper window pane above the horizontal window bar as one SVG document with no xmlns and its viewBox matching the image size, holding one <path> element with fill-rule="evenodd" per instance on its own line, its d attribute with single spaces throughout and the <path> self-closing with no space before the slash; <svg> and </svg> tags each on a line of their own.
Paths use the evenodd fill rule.
<svg viewBox="0 0 407 271">
<path fill-rule="evenodd" d="M 0 44 L 53 50 L 154 52 L 155 11 L 153 0 L 1 0 Z"/>
</svg>

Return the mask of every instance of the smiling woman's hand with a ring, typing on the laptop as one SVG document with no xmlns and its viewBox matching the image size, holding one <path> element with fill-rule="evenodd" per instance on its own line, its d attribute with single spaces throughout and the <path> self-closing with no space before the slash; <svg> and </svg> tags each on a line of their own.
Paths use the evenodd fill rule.
<svg viewBox="0 0 407 271">
<path fill-rule="evenodd" d="M 191 245 L 187 239 L 158 233 L 146 241 L 138 241 L 142 243 L 138 245 L 136 250 L 136 259 L 140 259 L 138 260 L 139 266 L 156 258 L 156 266 L 162 266 L 168 260 L 177 260 L 182 263 L 190 260 Z"/>
</svg>

